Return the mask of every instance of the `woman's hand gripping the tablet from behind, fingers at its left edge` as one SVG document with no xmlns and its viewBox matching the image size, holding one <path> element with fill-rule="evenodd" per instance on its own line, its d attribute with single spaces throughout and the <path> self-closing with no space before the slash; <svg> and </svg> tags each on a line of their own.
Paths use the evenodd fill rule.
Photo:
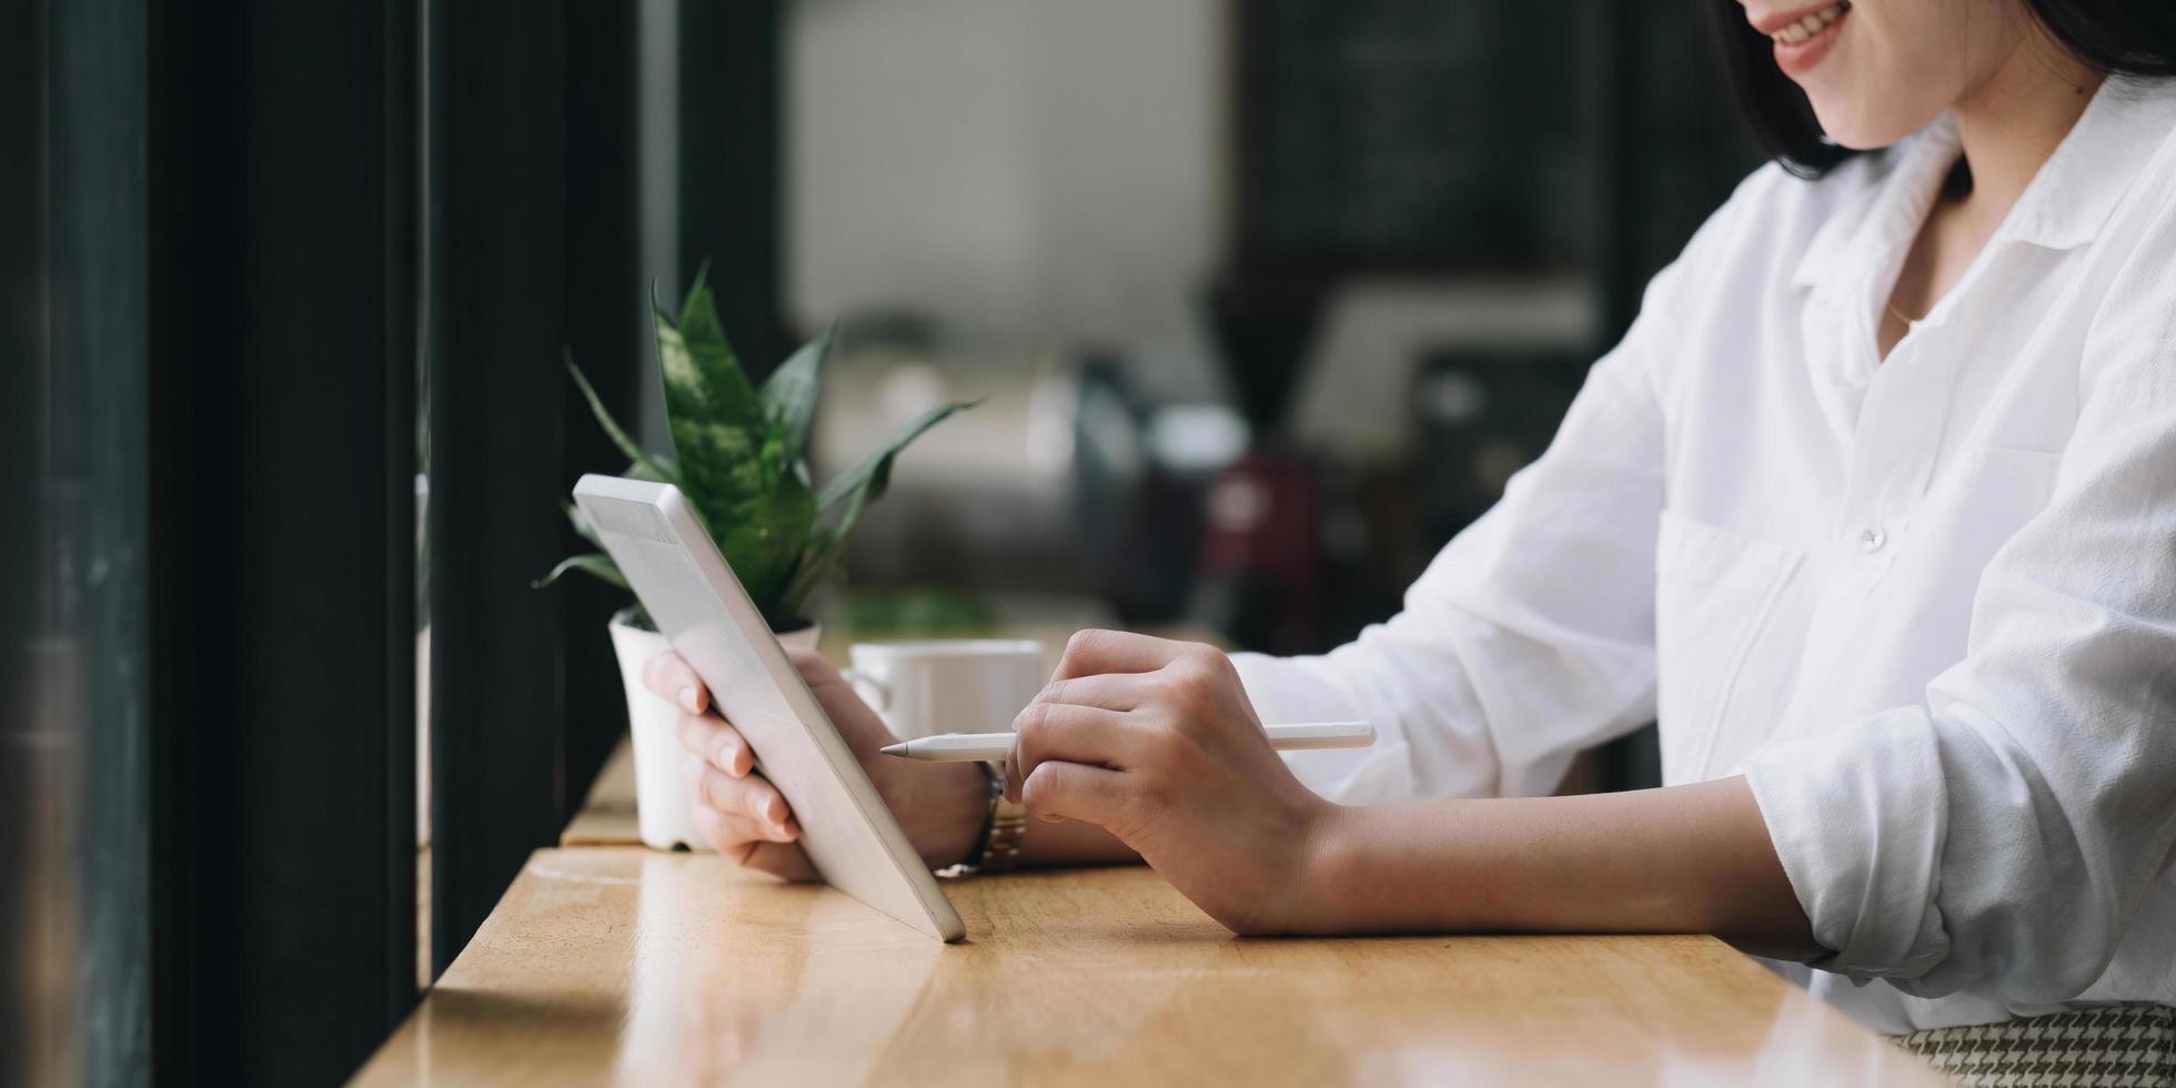
<svg viewBox="0 0 2176 1088">
<path fill-rule="evenodd" d="M 877 794 L 931 868 L 960 862 L 981 836 L 988 779 L 975 764 L 925 764 L 886 757 L 892 733 L 853 685 L 814 651 L 788 648 L 816 703 L 868 770 Z M 709 690 L 679 653 L 666 651 L 642 668 L 642 683 L 677 705 L 679 740 L 690 759 L 694 823 L 703 838 L 749 868 L 783 879 L 816 879 L 801 849 L 801 823 L 779 788 L 755 772 L 755 751 L 709 701 Z"/>
</svg>

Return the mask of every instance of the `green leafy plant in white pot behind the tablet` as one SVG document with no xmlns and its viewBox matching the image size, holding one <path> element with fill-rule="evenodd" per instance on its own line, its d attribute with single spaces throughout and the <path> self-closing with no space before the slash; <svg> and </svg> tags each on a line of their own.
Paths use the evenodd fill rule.
<svg viewBox="0 0 2176 1088">
<path fill-rule="evenodd" d="M 814 648 L 809 596 L 838 572 L 846 535 L 892 483 L 899 450 L 968 405 L 920 413 L 862 463 L 816 487 L 807 437 L 838 326 L 801 346 L 757 387 L 740 370 L 703 279 L 696 272 L 677 318 L 651 300 L 670 453 L 644 450 L 611 418 L 581 368 L 572 359 L 566 368 L 598 426 L 627 455 L 625 474 L 677 485 L 779 640 Z M 579 507 L 568 503 L 566 514 L 574 533 L 598 544 Z M 603 544 L 564 559 L 537 585 L 574 570 L 627 588 Z M 657 849 L 698 846 L 675 735 L 679 709 L 642 685 L 642 666 L 666 648 L 666 640 L 633 603 L 611 618 L 611 646 L 627 688 L 642 842 Z"/>
</svg>

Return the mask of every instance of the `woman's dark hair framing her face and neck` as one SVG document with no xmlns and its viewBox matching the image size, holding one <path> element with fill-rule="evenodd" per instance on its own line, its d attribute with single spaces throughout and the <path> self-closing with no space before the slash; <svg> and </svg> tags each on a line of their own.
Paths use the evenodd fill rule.
<svg viewBox="0 0 2176 1088">
<path fill-rule="evenodd" d="M 2072 57 L 2111 76 L 2176 76 L 2176 2 L 2172 0 L 2022 0 L 2048 37 Z M 1776 67 L 1767 35 L 1745 22 L 1739 0 L 1708 0 L 1723 72 L 1760 146 L 1784 170 L 1817 178 L 1856 154 L 1832 144 L 1813 118 L 1806 91 Z"/>
</svg>

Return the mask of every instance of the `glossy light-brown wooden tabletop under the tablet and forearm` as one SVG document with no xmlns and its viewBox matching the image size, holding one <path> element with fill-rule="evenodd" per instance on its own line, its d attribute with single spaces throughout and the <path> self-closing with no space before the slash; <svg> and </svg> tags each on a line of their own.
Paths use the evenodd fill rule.
<svg viewBox="0 0 2176 1088">
<path fill-rule="evenodd" d="M 537 851 L 359 1084 L 1943 1084 L 1708 938 L 1238 940 L 1147 868 L 947 890 L 964 944 Z"/>
</svg>

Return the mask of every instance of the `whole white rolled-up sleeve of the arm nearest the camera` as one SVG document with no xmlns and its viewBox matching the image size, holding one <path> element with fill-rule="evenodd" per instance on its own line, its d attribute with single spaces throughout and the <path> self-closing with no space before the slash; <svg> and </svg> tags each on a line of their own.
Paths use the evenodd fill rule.
<svg viewBox="0 0 2176 1088">
<path fill-rule="evenodd" d="M 2159 263 L 2159 268 L 2154 268 Z M 1904 992 L 2065 1001 L 2176 844 L 2176 248 L 2087 339 L 2050 505 L 1985 568 L 1965 659 L 1756 753 L 1776 851 L 1832 951 Z"/>
</svg>

